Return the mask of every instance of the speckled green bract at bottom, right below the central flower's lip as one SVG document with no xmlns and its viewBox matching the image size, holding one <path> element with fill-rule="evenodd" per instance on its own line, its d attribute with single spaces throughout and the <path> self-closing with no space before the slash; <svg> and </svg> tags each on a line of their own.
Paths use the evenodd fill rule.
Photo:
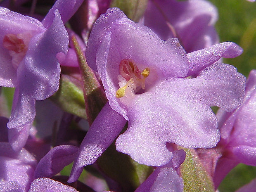
<svg viewBox="0 0 256 192">
<path fill-rule="evenodd" d="M 185 149 L 186 159 L 180 166 L 184 192 L 215 192 L 213 181 L 194 149 Z"/>
</svg>

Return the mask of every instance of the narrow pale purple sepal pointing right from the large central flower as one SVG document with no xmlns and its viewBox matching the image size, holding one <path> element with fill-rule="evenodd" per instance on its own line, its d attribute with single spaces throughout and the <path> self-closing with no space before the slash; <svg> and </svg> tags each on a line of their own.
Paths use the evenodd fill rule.
<svg viewBox="0 0 256 192">
<path fill-rule="evenodd" d="M 202 69 L 218 61 L 220 57 L 233 58 L 241 55 L 242 52 L 242 48 L 237 44 L 224 42 L 188 53 L 187 58 L 190 63 L 190 71 L 187 76 L 199 73 Z"/>
</svg>

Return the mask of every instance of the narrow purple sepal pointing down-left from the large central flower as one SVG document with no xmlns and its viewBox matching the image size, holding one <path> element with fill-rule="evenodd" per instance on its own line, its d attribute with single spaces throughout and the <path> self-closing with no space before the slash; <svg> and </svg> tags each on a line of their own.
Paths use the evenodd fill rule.
<svg viewBox="0 0 256 192">
<path fill-rule="evenodd" d="M 79 148 L 78 158 L 73 164 L 68 182 L 74 182 L 83 171 L 83 166 L 93 164 L 119 135 L 126 120 L 109 104 L 100 111 L 85 135 Z"/>
</svg>

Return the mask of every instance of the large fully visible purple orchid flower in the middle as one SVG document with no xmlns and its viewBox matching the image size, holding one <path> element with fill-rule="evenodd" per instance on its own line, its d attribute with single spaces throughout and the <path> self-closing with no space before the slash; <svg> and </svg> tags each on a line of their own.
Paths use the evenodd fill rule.
<svg viewBox="0 0 256 192">
<path fill-rule="evenodd" d="M 126 121 L 128 129 L 117 138 L 116 149 L 140 164 L 168 163 L 173 155 L 166 142 L 214 147 L 220 134 L 210 106 L 235 109 L 242 102 L 245 78 L 233 66 L 213 63 L 241 53 L 235 43 L 226 42 L 186 54 L 178 39 L 161 40 L 120 9 L 108 9 L 92 28 L 85 55 L 109 102 L 85 136 L 69 182 L 96 161 Z M 197 78 L 186 78 L 202 69 Z"/>
</svg>

